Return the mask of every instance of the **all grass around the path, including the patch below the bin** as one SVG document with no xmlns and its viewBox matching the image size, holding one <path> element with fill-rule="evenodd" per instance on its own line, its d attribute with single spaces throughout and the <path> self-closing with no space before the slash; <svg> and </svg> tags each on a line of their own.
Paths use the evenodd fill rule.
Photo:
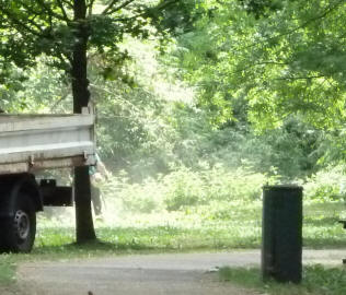
<svg viewBox="0 0 346 295">
<path fill-rule="evenodd" d="M 303 222 L 304 247 L 343 248 L 346 246 L 346 232 L 337 220 L 344 214 L 344 204 L 305 204 Z M 38 220 L 36 244 L 31 255 L 3 255 L 0 257 L 0 285 L 15 281 L 15 266 L 33 260 L 69 260 L 101 256 L 174 251 L 218 251 L 231 249 L 250 249 L 261 246 L 262 203 L 224 203 L 218 206 L 188 208 L 180 212 L 162 212 L 118 216 L 96 222 L 96 233 L 102 243 L 76 246 L 74 228 L 71 220 L 61 217 Z M 324 269 L 307 268 L 305 278 L 314 278 Z M 235 273 L 250 280 L 251 287 L 260 290 L 267 286 L 270 294 L 310 294 L 309 287 L 292 286 L 298 293 L 285 293 L 287 287 L 276 284 L 263 284 L 258 270 L 224 270 L 222 280 L 244 284 Z M 328 274 L 330 272 L 326 272 Z M 344 270 L 333 272 L 344 278 Z M 226 279 L 224 279 L 226 278 Z M 234 279 L 235 278 L 235 279 Z M 246 279 L 247 278 L 247 279 Z M 333 279 L 333 278 L 332 278 Z M 331 280 L 332 280 L 331 279 Z M 310 279 L 309 279 L 310 280 Z M 314 279 L 304 284 L 314 284 Z M 276 291 L 278 290 L 278 291 Z M 308 290 L 308 291 L 307 291 Z M 270 291 L 272 292 L 272 291 Z M 281 292 L 281 293 L 280 293 Z M 296 291 L 295 291 L 296 292 Z M 341 294 L 341 293 L 311 293 Z M 346 293 L 344 293 L 346 294 Z"/>
</svg>

